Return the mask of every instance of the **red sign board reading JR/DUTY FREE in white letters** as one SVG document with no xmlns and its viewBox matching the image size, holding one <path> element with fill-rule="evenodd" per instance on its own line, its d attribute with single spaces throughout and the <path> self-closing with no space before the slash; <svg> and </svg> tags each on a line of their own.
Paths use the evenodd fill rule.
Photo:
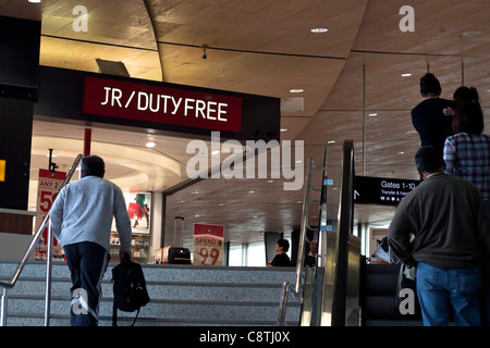
<svg viewBox="0 0 490 348">
<path fill-rule="evenodd" d="M 242 98 L 97 77 L 85 77 L 82 112 L 212 130 L 242 128 Z"/>
</svg>

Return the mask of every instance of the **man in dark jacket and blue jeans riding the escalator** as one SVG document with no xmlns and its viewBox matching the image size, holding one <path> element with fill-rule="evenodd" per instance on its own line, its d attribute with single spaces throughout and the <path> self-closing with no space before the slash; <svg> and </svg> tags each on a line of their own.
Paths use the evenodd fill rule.
<svg viewBox="0 0 490 348">
<path fill-rule="evenodd" d="M 444 174 L 439 149 L 418 150 L 424 182 L 400 202 L 388 231 L 390 249 L 417 268 L 424 325 L 480 325 L 480 273 L 490 275 L 490 231 L 481 192 Z M 411 243 L 411 234 L 415 236 Z"/>
</svg>

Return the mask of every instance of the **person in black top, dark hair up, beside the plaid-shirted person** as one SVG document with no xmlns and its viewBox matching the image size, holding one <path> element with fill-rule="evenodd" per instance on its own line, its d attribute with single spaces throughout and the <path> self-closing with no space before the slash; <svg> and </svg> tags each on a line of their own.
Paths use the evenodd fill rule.
<svg viewBox="0 0 490 348">
<path fill-rule="evenodd" d="M 444 115 L 443 110 L 455 110 L 456 102 L 440 98 L 441 91 L 441 84 L 433 74 L 420 78 L 420 95 L 426 100 L 412 109 L 412 124 L 420 136 L 421 147 L 433 146 L 442 154 L 445 138 L 453 135 L 453 117 Z"/>
</svg>

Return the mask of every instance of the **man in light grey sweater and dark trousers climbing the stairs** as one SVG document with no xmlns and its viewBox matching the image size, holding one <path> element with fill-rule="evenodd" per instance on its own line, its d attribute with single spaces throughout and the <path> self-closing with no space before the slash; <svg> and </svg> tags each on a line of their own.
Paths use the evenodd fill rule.
<svg viewBox="0 0 490 348">
<path fill-rule="evenodd" d="M 51 209 L 51 228 L 72 274 L 72 326 L 98 324 L 101 281 L 110 256 L 112 217 L 120 236 L 121 261 L 131 258 L 131 220 L 124 196 L 103 178 L 97 156 L 82 159 L 82 178 L 63 187 Z"/>
</svg>

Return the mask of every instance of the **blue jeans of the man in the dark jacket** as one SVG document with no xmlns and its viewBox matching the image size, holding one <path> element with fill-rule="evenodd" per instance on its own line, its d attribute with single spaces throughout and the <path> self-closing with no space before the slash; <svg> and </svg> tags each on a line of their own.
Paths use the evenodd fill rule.
<svg viewBox="0 0 490 348">
<path fill-rule="evenodd" d="M 480 270 L 437 269 L 417 264 L 417 295 L 425 326 L 446 326 L 453 312 L 457 326 L 479 326 Z"/>
</svg>

